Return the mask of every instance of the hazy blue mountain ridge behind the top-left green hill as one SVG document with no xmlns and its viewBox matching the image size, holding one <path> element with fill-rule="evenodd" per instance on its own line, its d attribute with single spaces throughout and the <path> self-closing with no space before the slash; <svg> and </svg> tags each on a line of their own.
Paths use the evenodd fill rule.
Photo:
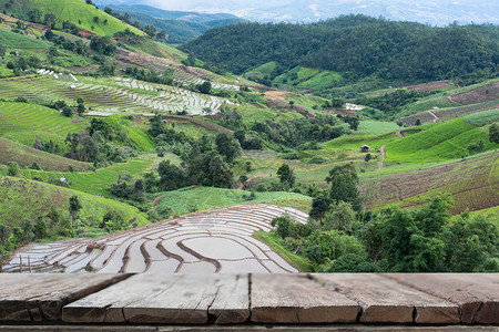
<svg viewBox="0 0 499 332">
<path fill-rule="evenodd" d="M 131 21 L 138 21 L 144 27 L 154 25 L 157 31 L 166 31 L 165 41 L 172 44 L 187 42 L 213 27 L 244 22 L 243 19 L 228 13 L 169 11 L 143 4 L 110 4 L 108 7 L 121 15 L 128 13 Z"/>
</svg>

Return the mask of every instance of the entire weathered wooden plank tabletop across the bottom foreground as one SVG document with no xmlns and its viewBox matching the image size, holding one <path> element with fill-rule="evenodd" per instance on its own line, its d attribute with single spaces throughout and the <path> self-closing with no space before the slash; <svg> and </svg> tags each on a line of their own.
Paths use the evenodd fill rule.
<svg viewBox="0 0 499 332">
<path fill-rule="evenodd" d="M 104 330 L 121 324 L 121 331 L 126 331 L 123 326 L 146 331 L 152 324 L 174 325 L 180 331 L 184 324 L 190 325 L 186 330 L 195 330 L 195 324 L 218 330 L 221 324 L 234 329 L 244 324 L 254 331 L 268 324 L 277 330 L 324 324 L 313 330 L 375 331 L 376 325 L 363 324 L 376 323 L 386 331 L 398 329 L 394 326 L 445 331 L 446 325 L 450 325 L 448 331 L 459 331 L 472 324 L 476 331 L 498 332 L 498 308 L 497 273 L 0 273 L 0 321 L 57 321 L 82 330 L 89 324 Z M 170 331 L 166 325 L 163 331 Z M 231 326 L 223 329 L 231 331 Z"/>
</svg>

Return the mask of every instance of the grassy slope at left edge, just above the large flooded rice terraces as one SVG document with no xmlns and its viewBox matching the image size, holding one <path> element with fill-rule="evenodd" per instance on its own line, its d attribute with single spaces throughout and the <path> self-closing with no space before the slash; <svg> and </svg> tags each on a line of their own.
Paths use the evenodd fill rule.
<svg viewBox="0 0 499 332">
<path fill-rule="evenodd" d="M 74 195 L 82 205 L 80 217 L 86 222 L 100 222 L 110 210 L 120 211 L 126 220 L 136 218 L 139 225 L 149 222 L 136 208 L 125 204 L 13 177 L 0 177 L 0 222 L 17 225 L 26 218 L 35 219 L 47 216 L 52 207 L 69 218 L 69 198 Z"/>
</svg>

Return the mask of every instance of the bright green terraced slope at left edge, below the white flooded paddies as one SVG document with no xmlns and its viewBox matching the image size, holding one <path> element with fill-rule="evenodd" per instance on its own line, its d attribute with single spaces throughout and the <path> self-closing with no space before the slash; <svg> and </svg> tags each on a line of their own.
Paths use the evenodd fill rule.
<svg viewBox="0 0 499 332">
<path fill-rule="evenodd" d="M 75 123 L 58 111 L 24 103 L 0 102 L 0 137 L 33 146 L 38 135 L 43 142 L 52 139 L 65 147 L 68 133 L 86 128 L 88 122 Z"/>
</svg>

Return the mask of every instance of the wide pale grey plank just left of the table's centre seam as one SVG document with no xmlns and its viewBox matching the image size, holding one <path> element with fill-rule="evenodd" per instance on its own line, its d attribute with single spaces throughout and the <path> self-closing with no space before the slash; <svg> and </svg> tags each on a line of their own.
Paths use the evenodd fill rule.
<svg viewBox="0 0 499 332">
<path fill-rule="evenodd" d="M 65 322 L 221 324 L 249 317 L 247 274 L 136 274 L 63 309 Z"/>
</svg>

